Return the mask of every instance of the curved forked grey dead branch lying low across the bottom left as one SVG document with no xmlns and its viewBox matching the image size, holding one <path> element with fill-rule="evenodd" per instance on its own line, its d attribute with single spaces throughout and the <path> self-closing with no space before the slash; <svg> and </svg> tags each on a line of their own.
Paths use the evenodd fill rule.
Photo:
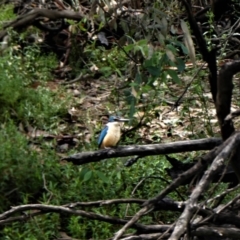
<svg viewBox="0 0 240 240">
<path fill-rule="evenodd" d="M 116 217 L 96 214 L 94 212 L 87 212 L 83 210 L 73 209 L 74 207 L 84 207 L 84 206 L 103 206 L 103 205 L 111 205 L 111 204 L 123 204 L 123 203 L 142 203 L 144 200 L 142 199 L 113 199 L 113 200 L 103 200 L 103 201 L 95 201 L 95 202 L 77 202 L 72 204 L 67 204 L 63 206 L 56 206 L 56 205 L 45 205 L 45 204 L 27 204 L 27 205 L 20 205 L 16 207 L 12 207 L 12 209 L 0 214 L 0 225 L 4 225 L 10 222 L 22 221 L 31 219 L 33 217 L 47 214 L 47 213 L 65 213 L 67 215 L 75 215 L 75 216 L 82 216 L 88 219 L 95 219 L 99 221 L 108 222 L 110 224 L 125 224 L 128 221 L 119 219 Z M 159 202 L 158 208 L 165 208 L 167 205 L 175 205 L 178 206 L 178 202 L 171 201 L 169 199 L 165 199 L 162 202 Z M 37 211 L 36 211 L 37 210 Z M 26 212 L 28 211 L 28 212 Z M 16 214 L 21 213 L 20 216 L 15 216 Z M 12 217 L 14 215 L 14 217 Z M 143 225 L 143 224 L 134 224 L 132 225 L 133 228 L 138 230 L 139 232 L 151 232 L 151 231 L 160 231 L 164 232 L 169 227 L 169 225 Z"/>
</svg>

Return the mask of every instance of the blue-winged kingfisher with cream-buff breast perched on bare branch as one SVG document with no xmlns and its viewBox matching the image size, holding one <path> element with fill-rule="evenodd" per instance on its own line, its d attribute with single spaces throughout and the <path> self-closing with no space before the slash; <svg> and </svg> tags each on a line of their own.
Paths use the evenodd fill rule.
<svg viewBox="0 0 240 240">
<path fill-rule="evenodd" d="M 101 131 L 98 138 L 98 148 L 115 147 L 121 137 L 121 124 L 120 122 L 127 122 L 129 119 L 111 116 L 108 123 Z"/>
</svg>

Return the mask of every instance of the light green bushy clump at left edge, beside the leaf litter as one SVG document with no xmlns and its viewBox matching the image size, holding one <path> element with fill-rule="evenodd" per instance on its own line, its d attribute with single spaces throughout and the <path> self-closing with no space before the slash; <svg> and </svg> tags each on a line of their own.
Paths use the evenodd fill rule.
<svg viewBox="0 0 240 240">
<path fill-rule="evenodd" d="M 14 47 L 0 58 L 0 121 L 34 124 L 48 129 L 66 112 L 67 98 L 47 86 L 54 55 L 42 55 L 37 46 L 15 51 Z M 11 97 L 9 97 L 11 96 Z"/>
</svg>

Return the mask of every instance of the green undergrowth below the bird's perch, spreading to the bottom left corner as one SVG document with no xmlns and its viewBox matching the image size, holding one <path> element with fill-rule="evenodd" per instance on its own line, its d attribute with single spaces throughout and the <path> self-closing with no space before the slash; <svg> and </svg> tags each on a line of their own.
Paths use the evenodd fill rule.
<svg viewBox="0 0 240 240">
<path fill-rule="evenodd" d="M 18 132 L 13 123 L 2 126 L 0 131 L 1 211 L 10 205 L 28 203 L 66 204 L 91 199 L 149 198 L 166 186 L 164 168 L 168 163 L 163 158 L 146 158 L 134 168 L 125 168 L 124 161 L 109 159 L 98 164 L 82 167 L 60 165 L 54 151 L 44 148 L 36 151 L 29 147 L 27 139 Z M 14 144 L 13 144 L 14 143 Z M 147 169 L 147 171 L 146 171 Z M 142 180 L 142 183 L 139 182 Z M 134 190 L 135 189 L 135 190 Z M 133 204 L 127 214 L 139 209 Z M 111 205 L 102 208 L 86 208 L 99 214 L 124 217 L 126 205 Z M 162 220 L 162 219 L 161 219 Z M 62 222 L 64 221 L 64 224 Z M 151 219 L 143 219 L 149 223 Z M 3 229 L 4 239 L 49 239 L 61 231 L 76 238 L 101 238 L 112 236 L 115 226 L 83 217 L 46 214 L 29 219 L 24 224 L 12 223 Z"/>
</svg>

